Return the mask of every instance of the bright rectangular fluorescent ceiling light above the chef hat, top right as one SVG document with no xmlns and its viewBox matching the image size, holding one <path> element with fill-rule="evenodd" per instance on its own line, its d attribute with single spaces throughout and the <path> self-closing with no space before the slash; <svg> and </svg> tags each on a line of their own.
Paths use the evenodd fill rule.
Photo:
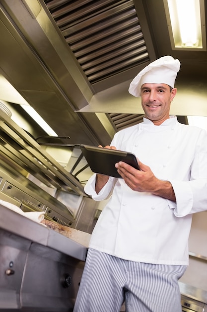
<svg viewBox="0 0 207 312">
<path fill-rule="evenodd" d="M 207 51 L 204 0 L 163 0 L 173 50 Z"/>
</svg>

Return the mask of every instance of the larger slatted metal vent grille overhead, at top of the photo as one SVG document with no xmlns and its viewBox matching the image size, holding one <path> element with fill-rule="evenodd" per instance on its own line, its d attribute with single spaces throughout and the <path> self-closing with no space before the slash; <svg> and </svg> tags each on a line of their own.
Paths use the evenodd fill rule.
<svg viewBox="0 0 207 312">
<path fill-rule="evenodd" d="M 45 0 L 91 84 L 148 61 L 133 0 Z"/>
</svg>

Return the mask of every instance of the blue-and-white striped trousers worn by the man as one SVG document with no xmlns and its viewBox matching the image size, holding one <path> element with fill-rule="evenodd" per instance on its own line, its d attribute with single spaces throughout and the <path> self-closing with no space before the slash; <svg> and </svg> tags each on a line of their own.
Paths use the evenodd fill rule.
<svg viewBox="0 0 207 312">
<path fill-rule="evenodd" d="M 73 312 L 182 312 L 178 279 L 186 266 L 123 260 L 90 249 Z"/>
</svg>

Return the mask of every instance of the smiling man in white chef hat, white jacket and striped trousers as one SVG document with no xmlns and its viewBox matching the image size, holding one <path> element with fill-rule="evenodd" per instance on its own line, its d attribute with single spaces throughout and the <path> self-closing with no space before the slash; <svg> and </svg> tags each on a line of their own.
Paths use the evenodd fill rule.
<svg viewBox="0 0 207 312">
<path fill-rule="evenodd" d="M 181 312 L 179 278 L 188 265 L 192 213 L 207 209 L 207 133 L 169 116 L 179 60 L 146 66 L 129 92 L 141 96 L 142 123 L 111 146 L 134 153 L 141 170 L 119 162 L 122 178 L 93 175 L 85 192 L 110 197 L 89 244 L 74 312 Z"/>
</svg>

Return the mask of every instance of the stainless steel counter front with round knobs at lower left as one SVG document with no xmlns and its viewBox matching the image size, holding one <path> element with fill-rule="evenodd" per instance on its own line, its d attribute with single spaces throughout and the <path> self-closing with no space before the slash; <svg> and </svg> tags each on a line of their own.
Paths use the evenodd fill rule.
<svg viewBox="0 0 207 312">
<path fill-rule="evenodd" d="M 0 311 L 72 311 L 87 249 L 0 210 Z"/>
</svg>

